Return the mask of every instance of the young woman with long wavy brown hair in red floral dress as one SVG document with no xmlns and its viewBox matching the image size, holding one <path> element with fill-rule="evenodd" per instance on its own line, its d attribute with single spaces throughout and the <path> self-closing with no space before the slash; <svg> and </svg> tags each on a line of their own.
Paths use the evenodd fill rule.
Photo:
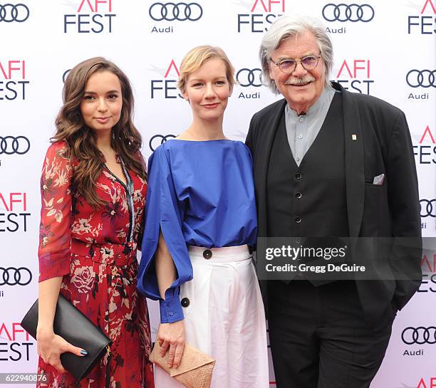
<svg viewBox="0 0 436 388">
<path fill-rule="evenodd" d="M 154 387 L 147 305 L 136 290 L 147 183 L 132 112 L 129 80 L 113 63 L 91 58 L 68 74 L 41 177 L 37 340 L 47 381 L 38 387 Z M 86 349 L 53 332 L 59 293 L 113 341 L 111 357 L 81 382 L 60 355 Z"/>
</svg>

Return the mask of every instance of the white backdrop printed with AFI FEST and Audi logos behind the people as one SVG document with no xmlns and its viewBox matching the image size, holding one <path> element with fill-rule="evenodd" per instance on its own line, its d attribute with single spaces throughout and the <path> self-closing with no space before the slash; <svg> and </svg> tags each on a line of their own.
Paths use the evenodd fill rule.
<svg viewBox="0 0 436 388">
<path fill-rule="evenodd" d="M 257 53 L 264 31 L 283 14 L 321 19 L 333 41 L 331 80 L 353 93 L 382 98 L 408 117 L 422 234 L 436 236 L 436 0 L 341 1 L 1 1 L 0 372 L 36 372 L 36 342 L 19 322 L 38 290 L 41 166 L 63 80 L 86 58 L 105 56 L 130 78 L 135 124 L 149 157 L 190 125 L 190 106 L 175 86 L 190 48 L 221 46 L 234 64 L 238 85 L 224 131 L 244 141 L 254 112 L 279 98 L 262 85 Z M 398 313 L 372 388 L 436 387 L 436 252 L 431 248 L 423 253 L 422 268 L 420 290 Z M 153 303 L 150 315 L 155 335 L 159 318 Z"/>
</svg>

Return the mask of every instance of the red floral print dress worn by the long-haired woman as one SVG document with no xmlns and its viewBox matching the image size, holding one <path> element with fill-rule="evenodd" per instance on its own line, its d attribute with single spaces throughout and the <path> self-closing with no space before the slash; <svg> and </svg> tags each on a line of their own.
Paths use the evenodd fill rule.
<svg viewBox="0 0 436 388">
<path fill-rule="evenodd" d="M 107 204 L 93 209 L 71 195 L 73 165 L 66 142 L 48 147 L 41 177 L 39 281 L 63 276 L 61 293 L 113 341 L 110 388 L 153 388 L 150 323 L 145 298 L 137 293 L 136 243 L 147 184 L 129 171 L 123 184 L 107 168 L 95 190 Z M 40 358 L 37 387 L 105 387 L 105 355 L 88 377 L 76 382 Z"/>
</svg>

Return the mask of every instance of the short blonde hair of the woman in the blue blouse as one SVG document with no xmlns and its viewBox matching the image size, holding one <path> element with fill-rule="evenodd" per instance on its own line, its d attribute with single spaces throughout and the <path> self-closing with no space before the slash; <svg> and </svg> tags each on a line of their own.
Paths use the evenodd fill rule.
<svg viewBox="0 0 436 388">
<path fill-rule="evenodd" d="M 219 58 L 224 62 L 227 81 L 229 82 L 230 88 L 233 88 L 235 83 L 234 67 L 232 63 L 230 63 L 229 58 L 227 58 L 226 53 L 224 53 L 224 50 L 214 46 L 197 46 L 192 48 L 192 50 L 185 55 L 180 64 L 180 77 L 177 81 L 177 88 L 179 88 L 180 92 L 185 93 L 188 76 L 199 69 L 203 63 L 210 58 Z"/>
</svg>

